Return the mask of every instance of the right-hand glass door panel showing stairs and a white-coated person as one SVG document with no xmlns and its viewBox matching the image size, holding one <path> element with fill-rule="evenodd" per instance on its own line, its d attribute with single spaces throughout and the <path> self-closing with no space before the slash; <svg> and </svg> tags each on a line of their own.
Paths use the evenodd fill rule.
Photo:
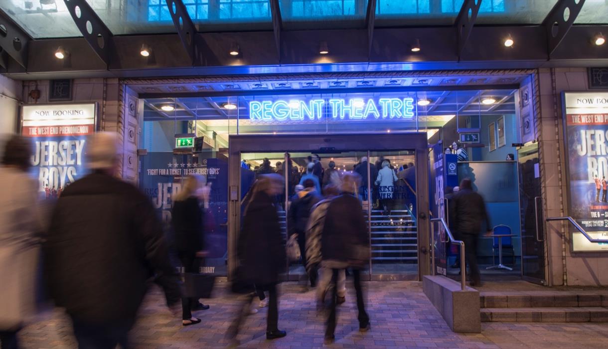
<svg viewBox="0 0 608 349">
<path fill-rule="evenodd" d="M 415 151 L 372 151 L 371 273 L 418 280 Z"/>
</svg>

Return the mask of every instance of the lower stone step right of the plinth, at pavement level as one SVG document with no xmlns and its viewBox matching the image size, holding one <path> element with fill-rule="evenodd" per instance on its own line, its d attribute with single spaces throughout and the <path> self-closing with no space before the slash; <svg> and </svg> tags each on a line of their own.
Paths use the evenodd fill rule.
<svg viewBox="0 0 608 349">
<path fill-rule="evenodd" d="M 483 308 L 481 316 L 482 322 L 608 322 L 608 308 Z"/>
</svg>

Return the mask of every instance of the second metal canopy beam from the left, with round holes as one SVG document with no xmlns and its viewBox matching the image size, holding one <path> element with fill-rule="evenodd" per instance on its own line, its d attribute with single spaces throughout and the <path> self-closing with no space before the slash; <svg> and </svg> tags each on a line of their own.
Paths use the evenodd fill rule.
<svg viewBox="0 0 608 349">
<path fill-rule="evenodd" d="M 85 0 L 63 0 L 63 2 L 86 42 L 109 67 L 114 45 L 112 32 Z"/>
</svg>

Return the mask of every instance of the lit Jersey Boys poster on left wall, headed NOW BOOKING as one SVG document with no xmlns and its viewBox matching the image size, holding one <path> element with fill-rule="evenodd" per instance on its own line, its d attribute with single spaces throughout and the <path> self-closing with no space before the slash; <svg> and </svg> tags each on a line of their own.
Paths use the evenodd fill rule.
<svg viewBox="0 0 608 349">
<path fill-rule="evenodd" d="M 95 110 L 95 103 L 22 107 L 21 134 L 32 140 L 30 171 L 41 196 L 57 198 L 86 174 L 86 144 L 95 133 Z"/>
</svg>

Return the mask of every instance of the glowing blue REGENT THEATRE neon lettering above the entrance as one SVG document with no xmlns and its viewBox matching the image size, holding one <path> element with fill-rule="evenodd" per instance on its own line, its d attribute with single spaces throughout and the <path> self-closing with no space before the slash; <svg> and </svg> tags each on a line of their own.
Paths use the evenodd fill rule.
<svg viewBox="0 0 608 349">
<path fill-rule="evenodd" d="M 253 100 L 249 102 L 249 119 L 266 121 L 314 121 L 323 117 L 333 120 L 385 120 L 414 117 L 413 98 L 331 98 L 330 100 Z"/>
</svg>

